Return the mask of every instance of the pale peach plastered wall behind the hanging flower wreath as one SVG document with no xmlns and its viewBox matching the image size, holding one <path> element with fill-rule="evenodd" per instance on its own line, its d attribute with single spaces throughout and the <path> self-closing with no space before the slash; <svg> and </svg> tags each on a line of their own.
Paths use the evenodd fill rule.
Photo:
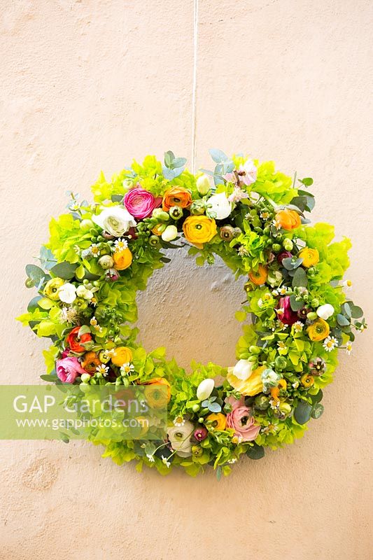
<svg viewBox="0 0 373 560">
<path fill-rule="evenodd" d="M 43 372 L 13 321 L 24 265 L 100 169 L 171 148 L 190 158 L 192 0 L 1 0 L 1 382 Z M 200 0 L 197 162 L 274 158 L 315 179 L 314 218 L 353 241 L 372 307 L 369 0 Z M 148 349 L 227 364 L 241 286 L 175 255 L 140 302 Z M 369 318 L 369 309 L 368 318 Z M 0 559 L 366 560 L 372 557 L 372 333 L 342 356 L 304 440 L 228 479 L 119 468 L 84 442 L 1 442 Z"/>
</svg>

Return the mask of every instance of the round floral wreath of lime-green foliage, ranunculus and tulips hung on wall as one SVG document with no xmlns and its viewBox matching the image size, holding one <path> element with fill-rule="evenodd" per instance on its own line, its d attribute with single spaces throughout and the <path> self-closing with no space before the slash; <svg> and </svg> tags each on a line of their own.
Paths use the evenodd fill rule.
<svg viewBox="0 0 373 560">
<path fill-rule="evenodd" d="M 323 412 L 338 351 L 350 353 L 366 324 L 343 281 L 349 239 L 332 242 L 332 225 L 311 226 L 305 217 L 314 207 L 312 179 L 242 154 L 210 153 L 213 171 L 192 174 L 168 151 L 163 164 L 148 155 L 111 182 L 101 174 L 94 204 L 69 193 L 68 213 L 50 222 L 40 266 L 26 267 L 27 287 L 38 295 L 19 319 L 52 339 L 45 380 L 167 387 L 164 439 L 93 439 L 104 456 L 162 474 L 177 465 L 194 476 L 211 465 L 219 478 L 243 454 L 261 458 L 265 447 L 302 437 Z M 187 374 L 164 348 L 148 353 L 136 342 L 136 293 L 176 246 L 188 246 L 197 265 L 218 255 L 236 279 L 244 276 L 232 367 L 192 363 Z"/>
</svg>

